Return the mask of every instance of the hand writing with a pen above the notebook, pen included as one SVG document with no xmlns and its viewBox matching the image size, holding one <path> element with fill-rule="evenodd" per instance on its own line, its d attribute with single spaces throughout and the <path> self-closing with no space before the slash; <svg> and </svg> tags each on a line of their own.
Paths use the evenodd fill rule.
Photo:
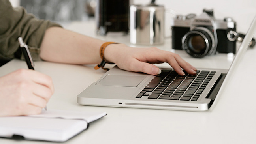
<svg viewBox="0 0 256 144">
<path fill-rule="evenodd" d="M 27 45 L 21 38 L 19 41 L 21 49 L 26 50 Z M 51 77 L 31 70 L 34 68 L 31 55 L 29 51 L 23 52 L 30 69 L 17 69 L 0 77 L 0 116 L 40 114 L 53 95 Z"/>
</svg>

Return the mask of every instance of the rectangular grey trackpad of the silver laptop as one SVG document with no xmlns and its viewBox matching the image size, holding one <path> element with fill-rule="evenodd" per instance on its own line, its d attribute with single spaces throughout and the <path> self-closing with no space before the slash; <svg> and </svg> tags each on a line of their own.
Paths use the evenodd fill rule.
<svg viewBox="0 0 256 144">
<path fill-rule="evenodd" d="M 145 76 L 130 76 L 130 75 L 107 75 L 102 80 L 100 80 L 97 85 L 102 86 L 127 86 L 136 87 L 138 86 L 146 77 Z"/>
</svg>

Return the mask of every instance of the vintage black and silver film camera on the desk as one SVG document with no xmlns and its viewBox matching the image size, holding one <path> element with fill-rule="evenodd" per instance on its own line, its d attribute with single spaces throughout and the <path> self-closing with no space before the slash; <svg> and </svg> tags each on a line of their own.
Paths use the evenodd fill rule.
<svg viewBox="0 0 256 144">
<path fill-rule="evenodd" d="M 193 57 L 236 52 L 236 22 L 230 17 L 216 20 L 213 10 L 204 9 L 199 16 L 177 15 L 171 29 L 172 48 L 183 49 Z"/>
</svg>

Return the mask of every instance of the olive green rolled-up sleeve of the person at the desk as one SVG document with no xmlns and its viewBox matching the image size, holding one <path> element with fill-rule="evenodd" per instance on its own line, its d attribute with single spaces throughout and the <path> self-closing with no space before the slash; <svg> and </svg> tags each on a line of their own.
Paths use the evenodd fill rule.
<svg viewBox="0 0 256 144">
<path fill-rule="evenodd" d="M 13 8 L 9 0 L 0 0 L 0 62 L 23 59 L 18 37 L 23 37 L 34 60 L 40 60 L 40 45 L 45 30 L 59 24 L 40 20 L 28 14 L 23 7 Z"/>
</svg>

